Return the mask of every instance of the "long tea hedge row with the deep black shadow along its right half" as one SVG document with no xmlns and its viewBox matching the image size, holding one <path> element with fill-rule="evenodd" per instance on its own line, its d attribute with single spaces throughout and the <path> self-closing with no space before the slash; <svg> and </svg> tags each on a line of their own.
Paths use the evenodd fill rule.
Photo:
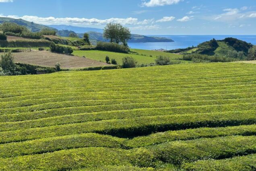
<svg viewBox="0 0 256 171">
<path fill-rule="evenodd" d="M 29 128 L 0 132 L 0 143 L 33 140 L 69 134 L 95 132 L 119 137 L 134 137 L 151 132 L 166 130 L 180 130 L 186 128 L 237 126 L 241 124 L 254 124 L 256 115 L 252 112 L 243 113 L 209 113 L 143 116 L 138 118 L 101 120 L 49 126 L 43 128 Z"/>
</svg>

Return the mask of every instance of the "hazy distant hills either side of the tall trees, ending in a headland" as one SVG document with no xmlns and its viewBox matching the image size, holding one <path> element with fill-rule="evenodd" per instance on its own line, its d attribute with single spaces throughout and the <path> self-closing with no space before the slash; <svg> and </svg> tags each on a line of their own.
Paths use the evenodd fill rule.
<svg viewBox="0 0 256 171">
<path fill-rule="evenodd" d="M 3 22 L 14 22 L 16 24 L 26 26 L 32 32 L 41 31 L 43 28 L 50 28 L 56 30 L 59 36 L 67 37 L 71 32 L 75 32 L 79 37 L 83 37 L 83 33 L 89 33 L 91 40 L 97 41 L 109 41 L 103 37 L 103 29 L 91 28 L 91 27 L 78 27 L 69 25 L 49 25 L 45 26 L 42 24 L 36 24 L 34 22 L 29 22 L 22 19 L 6 18 L 0 17 L 0 24 Z M 143 35 L 132 34 L 132 39 L 128 41 L 129 43 L 147 43 L 147 42 L 174 42 L 171 39 L 163 37 L 148 37 Z"/>
</svg>

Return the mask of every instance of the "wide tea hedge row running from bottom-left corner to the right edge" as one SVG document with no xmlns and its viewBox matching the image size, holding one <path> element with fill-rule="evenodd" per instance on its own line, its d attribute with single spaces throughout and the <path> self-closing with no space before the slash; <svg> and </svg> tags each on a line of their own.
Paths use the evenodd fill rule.
<svg viewBox="0 0 256 171">
<path fill-rule="evenodd" d="M 162 162 L 180 165 L 200 159 L 223 159 L 255 153 L 255 144 L 256 136 L 226 136 L 175 141 L 132 150 L 89 147 L 0 159 L 0 168 L 25 171 L 69 170 L 105 165 L 156 167 Z"/>
</svg>

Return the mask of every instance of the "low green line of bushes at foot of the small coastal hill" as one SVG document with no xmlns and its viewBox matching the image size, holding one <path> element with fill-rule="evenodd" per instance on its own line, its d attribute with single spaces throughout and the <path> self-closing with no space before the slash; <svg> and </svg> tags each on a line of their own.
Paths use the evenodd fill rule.
<svg viewBox="0 0 256 171">
<path fill-rule="evenodd" d="M 209 56 L 209 55 L 202 55 L 198 53 L 192 53 L 188 55 L 184 55 L 183 60 L 185 61 L 192 61 L 194 63 L 201 63 L 201 62 L 233 62 L 237 61 L 235 58 L 230 57 L 220 57 L 220 56 Z"/>
</svg>

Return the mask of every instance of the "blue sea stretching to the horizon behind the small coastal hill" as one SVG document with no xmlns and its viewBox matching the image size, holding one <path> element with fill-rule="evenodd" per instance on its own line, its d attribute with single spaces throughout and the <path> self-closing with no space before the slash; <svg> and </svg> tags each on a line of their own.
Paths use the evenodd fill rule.
<svg viewBox="0 0 256 171">
<path fill-rule="evenodd" d="M 233 37 L 239 40 L 246 41 L 256 45 L 256 35 L 148 35 L 154 37 L 166 37 L 172 39 L 175 42 L 160 42 L 160 43 L 128 43 L 132 49 L 180 49 L 187 48 L 191 46 L 197 46 L 205 41 L 210 41 L 211 39 L 222 40 L 226 37 Z"/>
</svg>

